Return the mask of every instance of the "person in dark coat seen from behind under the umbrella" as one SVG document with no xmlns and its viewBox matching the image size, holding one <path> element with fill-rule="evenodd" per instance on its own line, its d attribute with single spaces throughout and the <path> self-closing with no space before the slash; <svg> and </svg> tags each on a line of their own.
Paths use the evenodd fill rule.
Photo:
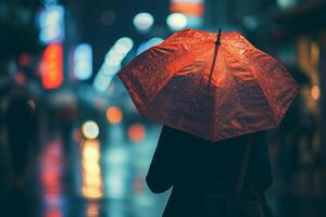
<svg viewBox="0 0 326 217">
<path fill-rule="evenodd" d="M 211 142 L 163 126 L 146 177 L 153 193 L 173 187 L 163 217 L 227 217 L 225 199 L 235 191 L 249 138 L 251 149 L 239 197 L 250 204 L 259 196 L 267 206 L 264 191 L 273 176 L 265 131 Z M 218 201 L 212 200 L 215 195 Z"/>
</svg>

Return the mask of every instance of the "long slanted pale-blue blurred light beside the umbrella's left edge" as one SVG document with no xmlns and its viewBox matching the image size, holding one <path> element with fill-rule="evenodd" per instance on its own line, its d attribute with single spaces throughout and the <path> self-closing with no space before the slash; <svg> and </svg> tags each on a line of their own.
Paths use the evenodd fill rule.
<svg viewBox="0 0 326 217">
<path fill-rule="evenodd" d="M 120 38 L 106 53 L 104 63 L 100 67 L 93 87 L 98 91 L 105 91 L 114 75 L 120 71 L 122 61 L 133 49 L 134 41 L 128 37 Z"/>
</svg>

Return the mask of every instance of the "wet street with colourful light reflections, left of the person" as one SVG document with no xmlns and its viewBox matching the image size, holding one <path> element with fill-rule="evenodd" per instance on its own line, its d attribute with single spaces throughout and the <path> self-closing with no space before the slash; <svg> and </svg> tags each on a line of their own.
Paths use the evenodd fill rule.
<svg viewBox="0 0 326 217">
<path fill-rule="evenodd" d="M 142 143 L 124 142 L 114 130 L 112 144 L 83 140 L 68 154 L 60 138 L 49 140 L 21 189 L 10 188 L 10 171 L 1 171 L 0 216 L 160 216 L 168 193 L 154 195 L 145 183 L 160 128 Z"/>
</svg>

